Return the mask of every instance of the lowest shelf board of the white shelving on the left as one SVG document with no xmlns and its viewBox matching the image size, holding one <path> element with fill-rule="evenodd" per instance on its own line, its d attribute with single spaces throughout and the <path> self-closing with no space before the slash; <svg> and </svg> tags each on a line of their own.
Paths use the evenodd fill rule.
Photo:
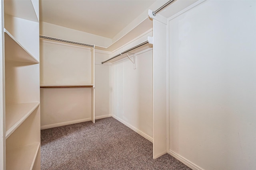
<svg viewBox="0 0 256 170">
<path fill-rule="evenodd" d="M 6 170 L 32 170 L 40 143 L 6 150 Z"/>
</svg>

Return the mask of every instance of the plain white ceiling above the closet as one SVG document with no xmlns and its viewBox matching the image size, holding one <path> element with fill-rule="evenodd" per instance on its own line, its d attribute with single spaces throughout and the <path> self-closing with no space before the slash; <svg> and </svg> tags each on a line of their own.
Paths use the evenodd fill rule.
<svg viewBox="0 0 256 170">
<path fill-rule="evenodd" d="M 113 38 L 156 0 L 40 0 L 40 21 Z"/>
</svg>

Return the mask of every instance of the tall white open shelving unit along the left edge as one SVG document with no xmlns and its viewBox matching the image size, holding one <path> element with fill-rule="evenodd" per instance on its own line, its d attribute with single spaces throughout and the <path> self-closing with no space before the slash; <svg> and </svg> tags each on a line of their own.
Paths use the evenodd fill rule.
<svg viewBox="0 0 256 170">
<path fill-rule="evenodd" d="M 39 1 L 4 0 L 1 8 L 0 170 L 40 169 Z"/>
</svg>

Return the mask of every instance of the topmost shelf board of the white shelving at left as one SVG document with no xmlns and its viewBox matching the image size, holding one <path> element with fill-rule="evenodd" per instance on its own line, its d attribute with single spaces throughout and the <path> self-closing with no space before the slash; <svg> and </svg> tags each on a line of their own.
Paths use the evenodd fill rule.
<svg viewBox="0 0 256 170">
<path fill-rule="evenodd" d="M 31 0 L 4 0 L 4 13 L 17 18 L 38 22 Z"/>
</svg>

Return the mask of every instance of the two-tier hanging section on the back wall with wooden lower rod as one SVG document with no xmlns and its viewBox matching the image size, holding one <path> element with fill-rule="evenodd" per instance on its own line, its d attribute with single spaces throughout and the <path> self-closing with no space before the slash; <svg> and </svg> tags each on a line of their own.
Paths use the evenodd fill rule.
<svg viewBox="0 0 256 170">
<path fill-rule="evenodd" d="M 42 129 L 89 119 L 94 123 L 94 46 L 77 45 L 41 37 L 40 53 Z M 80 93 L 76 94 L 77 91 Z M 83 95 L 80 95 L 81 93 Z M 67 102 L 67 98 L 75 98 L 83 103 Z M 51 104 L 55 102 L 56 104 L 49 104 L 51 100 Z M 67 108 L 76 105 L 77 110 L 73 109 L 71 116 L 68 109 L 63 110 L 61 105 L 66 105 Z M 54 121 L 49 121 L 49 115 L 51 119 L 54 117 Z M 64 117 L 64 119 L 57 119 L 57 117 Z"/>
</svg>

